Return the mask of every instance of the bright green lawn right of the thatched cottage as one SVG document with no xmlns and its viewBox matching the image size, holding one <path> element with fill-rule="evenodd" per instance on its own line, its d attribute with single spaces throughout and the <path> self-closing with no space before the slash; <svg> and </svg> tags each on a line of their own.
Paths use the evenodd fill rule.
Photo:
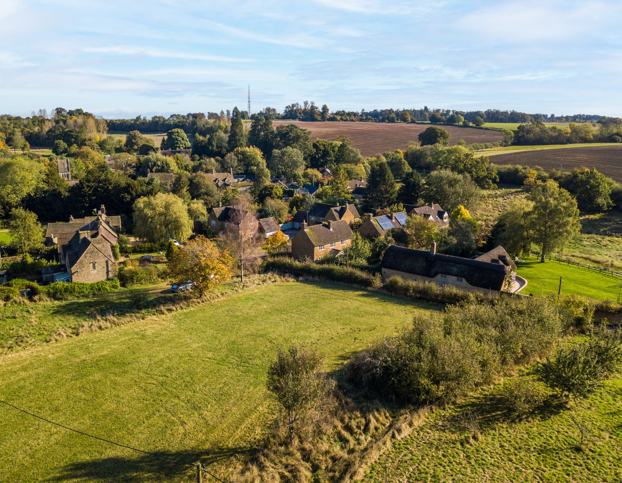
<svg viewBox="0 0 622 483">
<path fill-rule="evenodd" d="M 562 277 L 562 294 L 577 294 L 597 300 L 618 298 L 622 279 L 557 261 L 541 263 L 536 257 L 524 258 L 516 273 L 527 279 L 525 294 L 556 294 Z"/>
</svg>

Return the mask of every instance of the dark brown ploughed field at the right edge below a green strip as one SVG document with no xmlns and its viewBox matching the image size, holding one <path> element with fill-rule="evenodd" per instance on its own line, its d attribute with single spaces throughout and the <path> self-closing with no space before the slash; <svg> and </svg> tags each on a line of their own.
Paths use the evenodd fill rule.
<svg viewBox="0 0 622 483">
<path fill-rule="evenodd" d="M 521 164 L 541 166 L 545 171 L 595 167 L 605 176 L 622 182 L 622 144 L 587 146 L 585 148 L 542 149 L 540 151 L 511 152 L 490 157 L 494 164 Z"/>
</svg>

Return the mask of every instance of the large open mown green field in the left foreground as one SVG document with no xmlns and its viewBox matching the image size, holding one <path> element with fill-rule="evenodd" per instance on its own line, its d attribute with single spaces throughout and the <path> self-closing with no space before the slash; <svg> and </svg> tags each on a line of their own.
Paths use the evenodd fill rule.
<svg viewBox="0 0 622 483">
<path fill-rule="evenodd" d="M 0 398 L 101 438 L 183 461 L 244 459 L 274 407 L 266 368 L 309 344 L 337 368 L 430 304 L 327 283 L 276 282 L 0 359 Z M 0 407 L 0 481 L 188 482 L 192 467 Z"/>
</svg>

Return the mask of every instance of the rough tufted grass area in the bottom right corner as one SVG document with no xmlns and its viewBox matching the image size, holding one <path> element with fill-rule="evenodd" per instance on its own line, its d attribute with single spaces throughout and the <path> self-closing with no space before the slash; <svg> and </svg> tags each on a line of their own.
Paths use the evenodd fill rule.
<svg viewBox="0 0 622 483">
<path fill-rule="evenodd" d="M 570 409 L 551 398 L 525 421 L 510 417 L 496 388 L 430 413 L 419 428 L 373 464 L 364 483 L 619 482 L 622 481 L 622 378 Z M 467 411 L 480 417 L 481 439 L 467 443 Z M 588 424 L 587 448 L 570 416 Z"/>
</svg>

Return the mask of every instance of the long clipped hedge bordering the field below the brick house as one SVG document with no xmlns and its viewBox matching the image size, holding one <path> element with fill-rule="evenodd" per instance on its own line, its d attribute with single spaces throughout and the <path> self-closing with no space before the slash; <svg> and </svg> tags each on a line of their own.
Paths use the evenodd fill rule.
<svg viewBox="0 0 622 483">
<path fill-rule="evenodd" d="M 312 276 L 365 288 L 378 288 L 381 284 L 378 274 L 368 273 L 357 268 L 346 268 L 345 266 L 318 265 L 312 262 L 295 261 L 284 256 L 267 259 L 264 261 L 262 269 L 264 271 L 290 273 L 295 276 Z"/>
</svg>

